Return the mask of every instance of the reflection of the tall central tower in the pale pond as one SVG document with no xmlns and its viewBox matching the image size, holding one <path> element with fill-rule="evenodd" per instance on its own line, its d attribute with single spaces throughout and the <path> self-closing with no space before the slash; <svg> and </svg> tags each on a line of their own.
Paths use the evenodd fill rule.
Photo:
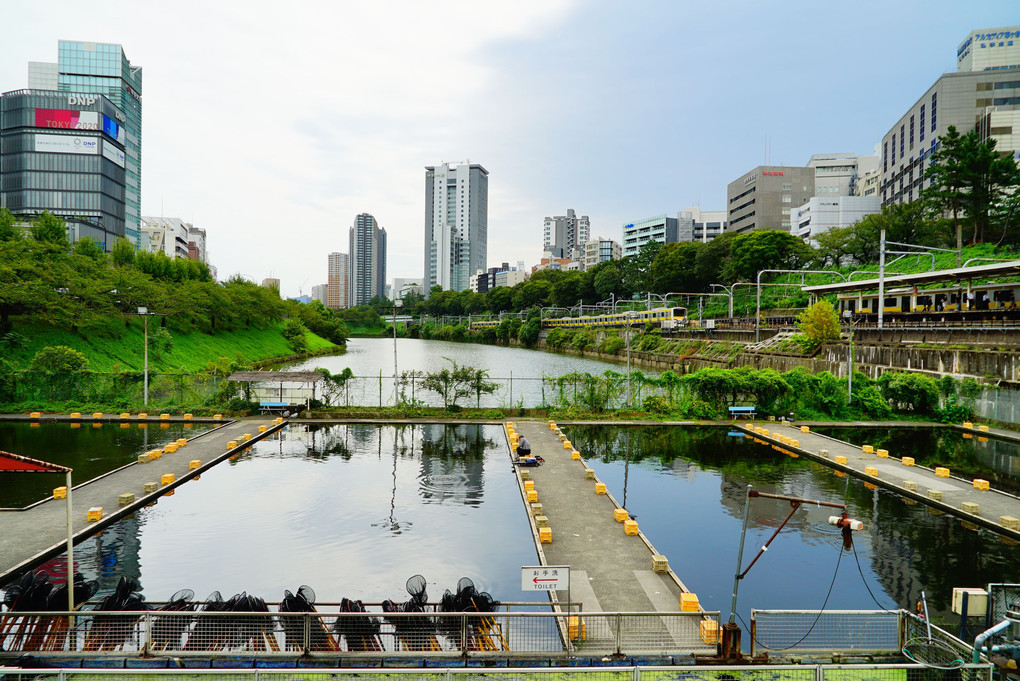
<svg viewBox="0 0 1020 681">
<path fill-rule="evenodd" d="M 418 493 L 426 502 L 481 504 L 484 453 L 491 443 L 480 426 L 421 426 Z"/>
</svg>

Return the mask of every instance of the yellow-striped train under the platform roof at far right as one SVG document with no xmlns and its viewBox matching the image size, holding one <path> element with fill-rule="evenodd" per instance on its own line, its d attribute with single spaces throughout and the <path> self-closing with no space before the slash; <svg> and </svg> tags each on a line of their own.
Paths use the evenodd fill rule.
<svg viewBox="0 0 1020 681">
<path fill-rule="evenodd" d="M 940 289 L 889 289 L 885 292 L 882 314 L 913 316 L 932 312 L 1005 313 L 1015 316 L 1020 299 L 1020 282 L 986 283 Z M 878 313 L 877 293 L 840 294 L 839 314 L 874 315 Z"/>
</svg>

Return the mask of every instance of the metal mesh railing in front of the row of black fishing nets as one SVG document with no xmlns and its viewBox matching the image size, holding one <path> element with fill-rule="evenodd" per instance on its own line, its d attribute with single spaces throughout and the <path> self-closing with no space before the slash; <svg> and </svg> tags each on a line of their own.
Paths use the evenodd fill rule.
<svg viewBox="0 0 1020 681">
<path fill-rule="evenodd" d="M 714 654 L 718 613 L 5 613 L 0 649 L 34 656 L 297 658 Z M 718 631 L 718 629 L 715 629 Z"/>
</svg>

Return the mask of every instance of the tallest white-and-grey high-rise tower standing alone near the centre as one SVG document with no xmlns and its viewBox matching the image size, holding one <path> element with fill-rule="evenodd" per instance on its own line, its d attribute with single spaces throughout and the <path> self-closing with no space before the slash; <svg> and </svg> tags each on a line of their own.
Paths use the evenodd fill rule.
<svg viewBox="0 0 1020 681">
<path fill-rule="evenodd" d="M 477 163 L 425 167 L 425 290 L 464 291 L 486 269 L 489 171 Z"/>
</svg>

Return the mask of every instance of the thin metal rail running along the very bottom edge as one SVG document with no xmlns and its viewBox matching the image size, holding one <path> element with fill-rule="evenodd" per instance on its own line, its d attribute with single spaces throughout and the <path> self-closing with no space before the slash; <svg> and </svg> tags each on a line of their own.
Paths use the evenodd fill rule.
<svg viewBox="0 0 1020 681">
<path fill-rule="evenodd" d="M 964 676 L 958 670 L 926 669 L 918 665 L 759 665 L 682 667 L 521 667 L 515 669 L 0 669 L 0 681 L 121 681 L 153 676 L 160 681 L 990 681 L 988 666 L 982 676 Z"/>
</svg>

